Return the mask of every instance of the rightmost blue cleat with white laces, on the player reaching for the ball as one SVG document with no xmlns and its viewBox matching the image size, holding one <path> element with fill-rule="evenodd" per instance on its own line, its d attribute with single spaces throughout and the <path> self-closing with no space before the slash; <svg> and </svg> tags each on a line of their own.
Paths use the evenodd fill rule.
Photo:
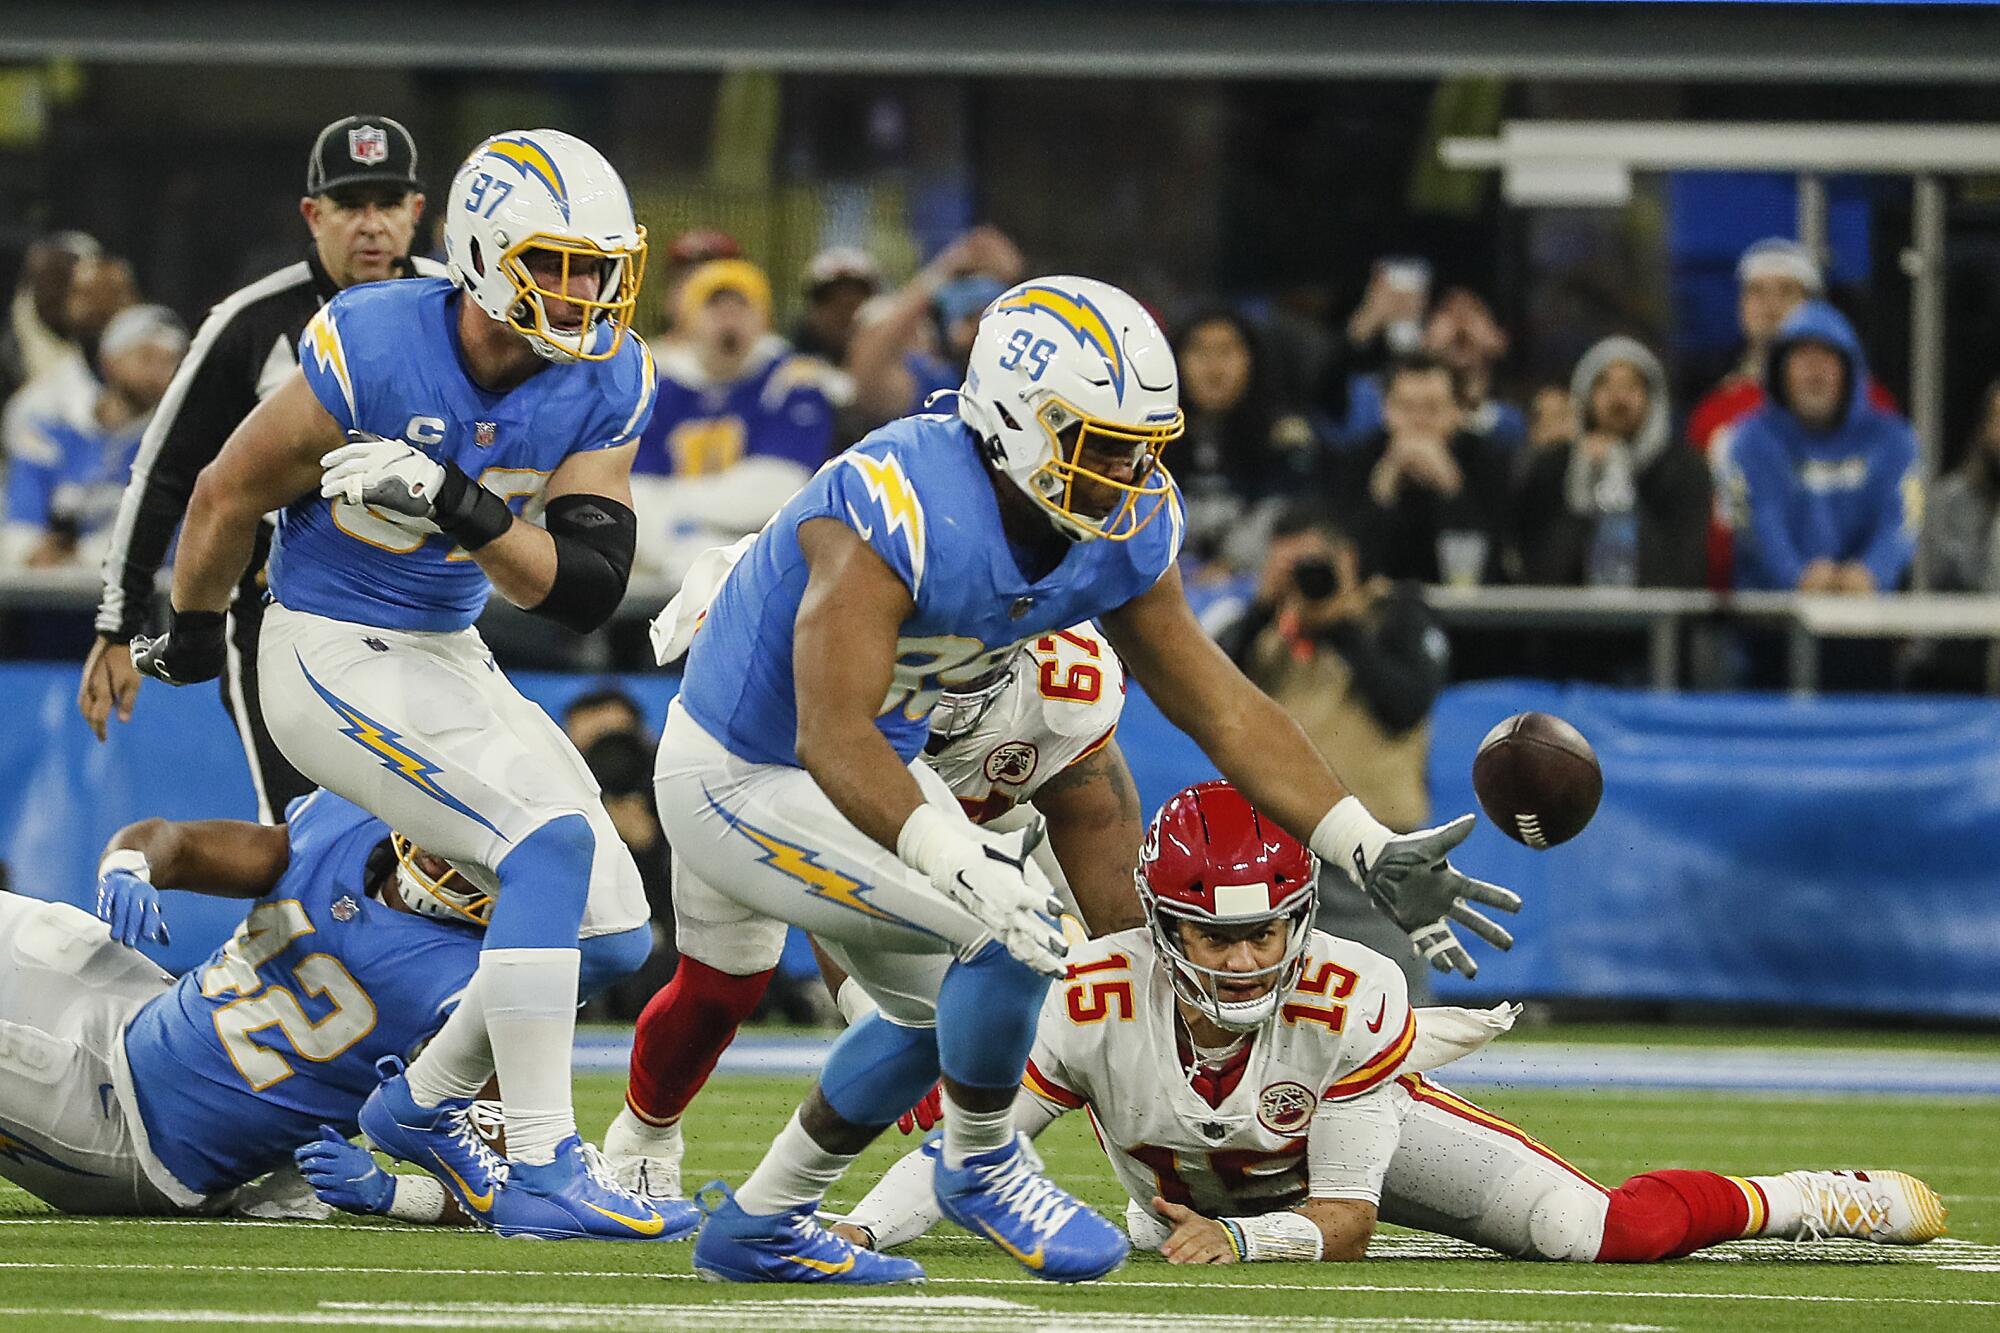
<svg viewBox="0 0 2000 1333">
<path fill-rule="evenodd" d="M 932 1173 L 938 1209 L 1052 1283 L 1086 1283 L 1126 1261 L 1132 1245 L 1060 1185 L 1034 1169 L 1024 1139 Z"/>
</svg>

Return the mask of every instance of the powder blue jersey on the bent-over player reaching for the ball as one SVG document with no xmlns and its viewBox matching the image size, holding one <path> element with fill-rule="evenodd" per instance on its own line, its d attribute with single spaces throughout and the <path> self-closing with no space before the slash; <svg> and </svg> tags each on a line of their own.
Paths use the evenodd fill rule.
<svg viewBox="0 0 2000 1333">
<path fill-rule="evenodd" d="M 1012 484 L 1012 482 L 1002 482 Z M 906 416 L 840 454 L 778 510 L 730 570 L 688 652 L 680 701 L 732 755 L 798 765 L 792 622 L 806 590 L 798 524 L 838 518 L 910 588 L 896 677 L 876 725 L 904 761 L 946 685 L 1030 638 L 1114 610 L 1180 554 L 1180 492 L 1124 542 L 1084 540 L 1040 580 L 1020 572 L 978 442 L 956 416 Z"/>
</svg>

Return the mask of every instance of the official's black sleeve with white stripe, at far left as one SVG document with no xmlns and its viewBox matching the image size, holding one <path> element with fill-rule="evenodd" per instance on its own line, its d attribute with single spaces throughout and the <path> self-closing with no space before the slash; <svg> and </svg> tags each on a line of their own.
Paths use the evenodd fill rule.
<svg viewBox="0 0 2000 1333">
<path fill-rule="evenodd" d="M 116 642 L 146 628 L 154 578 L 188 512 L 194 478 L 256 406 L 248 336 L 250 328 L 234 316 L 208 316 L 140 438 L 132 480 L 118 502 L 112 542 L 104 552 L 104 594 L 98 600 L 96 628 Z"/>
</svg>

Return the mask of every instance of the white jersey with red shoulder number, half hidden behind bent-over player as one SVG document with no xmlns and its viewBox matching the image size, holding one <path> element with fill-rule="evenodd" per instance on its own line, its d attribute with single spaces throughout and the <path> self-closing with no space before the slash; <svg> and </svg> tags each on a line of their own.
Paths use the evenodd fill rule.
<svg viewBox="0 0 2000 1333">
<path fill-rule="evenodd" d="M 924 763 L 950 783 L 972 823 L 990 825 L 1100 751 L 1122 709 L 1124 666 L 1086 620 L 1030 640 L 978 725 L 938 755 L 926 751 Z"/>
</svg>

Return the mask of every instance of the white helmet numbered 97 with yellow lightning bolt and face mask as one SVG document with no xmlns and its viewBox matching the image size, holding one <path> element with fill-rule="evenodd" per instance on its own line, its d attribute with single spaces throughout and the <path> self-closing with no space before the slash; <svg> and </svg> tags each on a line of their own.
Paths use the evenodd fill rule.
<svg viewBox="0 0 2000 1333">
<path fill-rule="evenodd" d="M 562 258 L 554 286 L 528 272 L 528 250 Z M 572 262 L 602 264 L 596 298 L 568 294 Z M 480 310 L 528 338 L 540 356 L 610 360 L 632 328 L 646 228 L 596 148 L 562 130 L 512 130 L 474 148 L 452 176 L 444 266 Z M 582 326 L 552 326 L 550 300 L 582 306 Z"/>
</svg>

